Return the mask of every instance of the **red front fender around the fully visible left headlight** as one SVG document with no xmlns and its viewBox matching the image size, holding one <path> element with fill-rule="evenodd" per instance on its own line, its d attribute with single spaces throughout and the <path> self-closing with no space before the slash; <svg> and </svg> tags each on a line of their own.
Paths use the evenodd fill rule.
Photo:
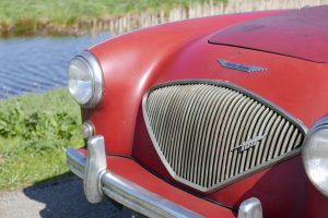
<svg viewBox="0 0 328 218">
<path fill-rule="evenodd" d="M 105 41 L 90 51 L 105 77 L 103 104 L 91 111 L 96 133 L 105 135 L 108 153 L 131 155 L 138 107 L 147 89 L 198 38 L 227 25 L 279 12 L 212 16 L 164 24 Z M 189 61 L 188 61 L 189 62 Z M 188 68 L 192 68 L 192 62 Z M 184 73 L 184 71 L 181 71 Z M 186 74 L 187 76 L 187 74 Z"/>
</svg>

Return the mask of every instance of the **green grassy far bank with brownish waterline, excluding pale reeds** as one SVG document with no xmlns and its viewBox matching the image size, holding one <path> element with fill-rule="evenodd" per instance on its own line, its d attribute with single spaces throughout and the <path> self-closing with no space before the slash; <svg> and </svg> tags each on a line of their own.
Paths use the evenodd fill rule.
<svg viewBox="0 0 328 218">
<path fill-rule="evenodd" d="M 35 34 L 79 34 L 95 28 L 95 23 L 116 21 L 127 14 L 141 16 L 168 13 L 194 3 L 224 0 L 1 0 L 2 36 Z M 134 17 L 136 19 L 136 17 Z M 78 29 L 77 29 L 78 28 Z"/>
</svg>

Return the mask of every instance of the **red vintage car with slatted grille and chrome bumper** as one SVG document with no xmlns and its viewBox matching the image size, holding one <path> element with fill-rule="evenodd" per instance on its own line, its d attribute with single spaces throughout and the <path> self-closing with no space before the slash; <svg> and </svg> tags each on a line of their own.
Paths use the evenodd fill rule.
<svg viewBox="0 0 328 218">
<path fill-rule="evenodd" d="M 328 5 L 187 20 L 72 59 L 90 203 L 148 217 L 328 217 Z"/>
</svg>

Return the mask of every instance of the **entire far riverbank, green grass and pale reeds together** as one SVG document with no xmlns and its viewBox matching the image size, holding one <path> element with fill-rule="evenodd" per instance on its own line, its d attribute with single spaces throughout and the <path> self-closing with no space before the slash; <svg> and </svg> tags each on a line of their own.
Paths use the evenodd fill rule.
<svg viewBox="0 0 328 218">
<path fill-rule="evenodd" d="M 0 36 L 121 34 L 214 14 L 327 4 L 328 0 L 2 0 Z"/>
</svg>

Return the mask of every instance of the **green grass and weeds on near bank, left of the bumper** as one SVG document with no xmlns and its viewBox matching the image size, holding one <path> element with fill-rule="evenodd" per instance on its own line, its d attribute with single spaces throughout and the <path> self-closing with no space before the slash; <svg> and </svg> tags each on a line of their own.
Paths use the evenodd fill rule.
<svg viewBox="0 0 328 218">
<path fill-rule="evenodd" d="M 66 148 L 83 143 L 80 123 L 66 89 L 0 101 L 0 191 L 66 173 Z"/>
</svg>

